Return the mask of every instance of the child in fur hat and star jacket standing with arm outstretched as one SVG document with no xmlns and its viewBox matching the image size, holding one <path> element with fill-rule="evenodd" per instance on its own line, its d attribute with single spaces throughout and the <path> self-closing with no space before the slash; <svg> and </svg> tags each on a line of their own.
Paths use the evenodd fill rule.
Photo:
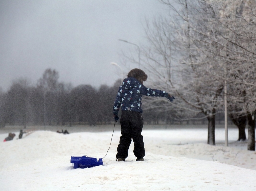
<svg viewBox="0 0 256 191">
<path fill-rule="evenodd" d="M 120 106 L 122 109 L 120 119 L 121 137 L 116 154 L 118 161 L 125 161 L 125 158 L 127 158 L 131 140 L 134 142 L 133 153 L 137 157 L 136 161 L 144 160 L 145 148 L 143 136 L 141 135 L 143 127 L 141 108 L 142 95 L 166 97 L 170 101 L 175 99 L 165 91 L 145 87 L 143 81 L 146 81 L 147 77 L 147 74 L 141 69 L 132 69 L 128 73 L 127 78 L 123 80 L 123 85 L 120 86 L 118 90 L 113 107 L 113 118 L 116 122 L 119 120 L 118 111 Z"/>
</svg>

